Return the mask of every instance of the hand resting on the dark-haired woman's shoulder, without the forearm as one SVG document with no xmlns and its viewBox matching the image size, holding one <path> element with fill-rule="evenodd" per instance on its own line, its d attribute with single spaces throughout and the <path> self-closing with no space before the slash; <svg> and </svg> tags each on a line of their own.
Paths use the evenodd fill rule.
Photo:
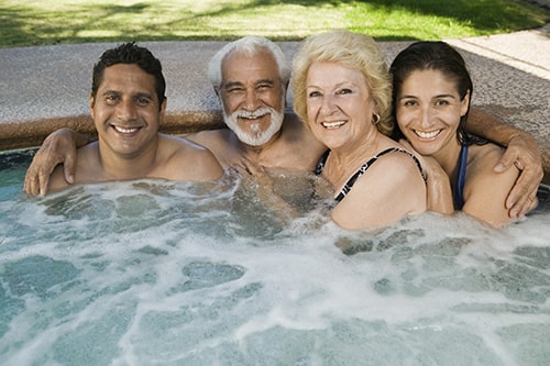
<svg viewBox="0 0 550 366">
<path fill-rule="evenodd" d="M 544 175 L 537 142 L 527 133 L 510 140 L 494 170 L 502 173 L 513 165 L 520 175 L 506 198 L 506 208 L 510 218 L 521 218 L 537 207 L 537 190 Z"/>
</svg>

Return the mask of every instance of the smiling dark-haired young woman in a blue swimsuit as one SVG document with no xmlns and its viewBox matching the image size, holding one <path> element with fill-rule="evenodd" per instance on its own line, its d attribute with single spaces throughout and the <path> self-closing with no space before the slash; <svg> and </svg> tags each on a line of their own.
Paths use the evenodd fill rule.
<svg viewBox="0 0 550 366">
<path fill-rule="evenodd" d="M 512 221 L 505 200 L 519 170 L 493 170 L 504 149 L 466 133 L 473 84 L 462 56 L 444 42 L 417 42 L 392 63 L 394 135 L 421 156 L 442 185 L 428 209 L 463 211 L 492 226 Z M 430 195 L 431 193 L 431 195 Z"/>
</svg>

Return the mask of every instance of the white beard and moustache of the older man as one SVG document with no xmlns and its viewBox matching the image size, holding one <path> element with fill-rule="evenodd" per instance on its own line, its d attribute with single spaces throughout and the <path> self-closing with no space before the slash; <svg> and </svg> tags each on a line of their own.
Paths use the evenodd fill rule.
<svg viewBox="0 0 550 366">
<path fill-rule="evenodd" d="M 250 132 L 244 131 L 239 126 L 239 118 L 258 118 L 264 114 L 270 114 L 271 123 L 267 126 L 267 130 L 261 131 L 258 122 L 251 122 Z M 273 108 L 261 108 L 255 110 L 254 112 L 248 111 L 237 111 L 228 115 L 226 111 L 223 111 L 223 121 L 228 125 L 228 127 L 233 131 L 240 141 L 251 146 L 262 146 L 266 144 L 274 134 L 276 134 L 280 126 L 283 125 L 283 120 L 285 119 L 284 112 L 277 112 Z"/>
</svg>

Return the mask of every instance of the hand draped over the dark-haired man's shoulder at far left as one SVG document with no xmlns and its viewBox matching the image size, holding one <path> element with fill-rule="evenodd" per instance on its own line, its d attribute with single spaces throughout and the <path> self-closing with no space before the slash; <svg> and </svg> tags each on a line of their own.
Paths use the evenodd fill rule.
<svg viewBox="0 0 550 366">
<path fill-rule="evenodd" d="M 70 129 L 52 132 L 34 155 L 26 170 L 23 188 L 32 196 L 45 196 L 50 175 L 58 164 L 64 164 L 65 180 L 73 184 L 77 162 L 77 147 L 90 143 L 91 140 Z"/>
</svg>

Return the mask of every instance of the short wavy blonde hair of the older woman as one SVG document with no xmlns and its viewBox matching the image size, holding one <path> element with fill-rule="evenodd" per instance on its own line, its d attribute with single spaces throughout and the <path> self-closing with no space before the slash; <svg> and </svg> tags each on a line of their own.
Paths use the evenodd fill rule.
<svg viewBox="0 0 550 366">
<path fill-rule="evenodd" d="M 380 114 L 376 127 L 386 135 L 392 134 L 392 80 L 385 55 L 371 36 L 337 30 L 310 35 L 302 41 L 293 60 L 292 78 L 294 111 L 302 122 L 307 121 L 307 75 L 316 62 L 338 63 L 360 70 Z"/>
</svg>

